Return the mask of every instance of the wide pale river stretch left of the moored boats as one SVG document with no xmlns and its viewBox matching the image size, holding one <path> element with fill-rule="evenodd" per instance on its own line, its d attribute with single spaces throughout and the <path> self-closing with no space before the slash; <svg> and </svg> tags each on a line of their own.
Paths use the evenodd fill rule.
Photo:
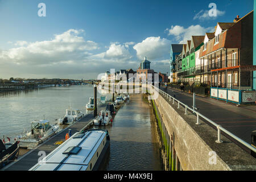
<svg viewBox="0 0 256 182">
<path fill-rule="evenodd" d="M 56 123 L 69 106 L 86 113 L 85 106 L 92 96 L 92 85 L 0 93 L 0 137 L 14 138 L 37 119 Z"/>
</svg>

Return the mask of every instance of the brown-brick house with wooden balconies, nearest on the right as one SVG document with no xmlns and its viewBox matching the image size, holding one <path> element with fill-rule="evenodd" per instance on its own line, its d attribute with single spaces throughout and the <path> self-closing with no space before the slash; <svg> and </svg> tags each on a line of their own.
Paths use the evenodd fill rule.
<svg viewBox="0 0 256 182">
<path fill-rule="evenodd" d="M 210 87 L 251 88 L 251 74 L 247 68 L 253 65 L 252 37 L 253 11 L 234 23 L 217 23 L 214 33 L 205 34 L 200 59 Z"/>
</svg>

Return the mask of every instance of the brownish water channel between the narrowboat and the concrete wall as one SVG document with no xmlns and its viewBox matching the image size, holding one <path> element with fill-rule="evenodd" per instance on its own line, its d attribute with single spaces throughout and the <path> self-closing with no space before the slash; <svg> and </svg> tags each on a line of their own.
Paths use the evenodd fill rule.
<svg viewBox="0 0 256 182">
<path fill-rule="evenodd" d="M 119 109 L 110 135 L 108 171 L 162 171 L 162 162 L 148 102 L 133 95 Z M 96 127 L 97 128 L 97 127 Z"/>
</svg>

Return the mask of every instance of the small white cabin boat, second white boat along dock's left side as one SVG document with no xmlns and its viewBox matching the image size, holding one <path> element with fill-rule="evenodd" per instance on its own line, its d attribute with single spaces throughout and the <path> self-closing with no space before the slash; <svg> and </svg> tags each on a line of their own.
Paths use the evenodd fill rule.
<svg viewBox="0 0 256 182">
<path fill-rule="evenodd" d="M 84 114 L 78 109 L 67 109 L 64 118 L 60 118 L 58 123 L 60 125 L 71 125 L 83 116 Z"/>
</svg>

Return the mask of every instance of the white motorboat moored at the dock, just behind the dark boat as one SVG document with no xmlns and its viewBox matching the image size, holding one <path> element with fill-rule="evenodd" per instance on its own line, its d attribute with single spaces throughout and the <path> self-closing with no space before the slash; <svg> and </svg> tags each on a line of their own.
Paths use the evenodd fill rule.
<svg viewBox="0 0 256 182">
<path fill-rule="evenodd" d="M 56 134 L 57 130 L 59 125 L 50 125 L 48 120 L 34 121 L 31 123 L 31 131 L 19 135 L 16 140 L 21 148 L 32 149 Z"/>
</svg>

